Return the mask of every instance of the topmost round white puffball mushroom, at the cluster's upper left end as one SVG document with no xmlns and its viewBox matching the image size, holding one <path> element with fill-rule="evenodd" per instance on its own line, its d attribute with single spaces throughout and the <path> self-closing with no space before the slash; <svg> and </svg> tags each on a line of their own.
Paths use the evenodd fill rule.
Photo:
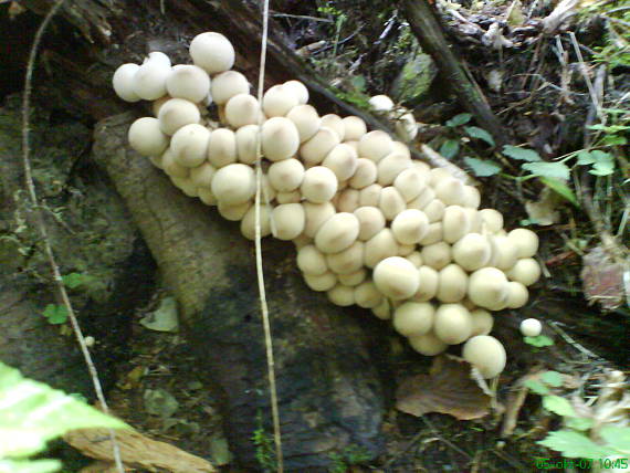
<svg viewBox="0 0 630 473">
<path fill-rule="evenodd" d="M 208 74 L 218 74 L 234 65 L 234 46 L 221 33 L 198 34 L 190 42 L 189 52 L 192 62 Z"/>
</svg>

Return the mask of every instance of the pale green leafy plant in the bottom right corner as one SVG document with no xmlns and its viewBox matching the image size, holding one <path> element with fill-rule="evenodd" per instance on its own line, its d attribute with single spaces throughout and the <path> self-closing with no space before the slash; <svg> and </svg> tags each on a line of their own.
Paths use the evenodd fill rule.
<svg viewBox="0 0 630 473">
<path fill-rule="evenodd" d="M 550 432 L 538 444 L 569 459 L 627 458 L 630 454 L 630 428 L 607 425 L 597 406 L 578 413 L 569 400 L 556 393 L 563 383 L 563 375 L 557 371 L 545 371 L 525 381 L 525 387 L 542 396 L 543 408 L 560 416 L 564 421 L 563 429 Z M 606 409 L 610 413 L 610 403 Z"/>
</svg>

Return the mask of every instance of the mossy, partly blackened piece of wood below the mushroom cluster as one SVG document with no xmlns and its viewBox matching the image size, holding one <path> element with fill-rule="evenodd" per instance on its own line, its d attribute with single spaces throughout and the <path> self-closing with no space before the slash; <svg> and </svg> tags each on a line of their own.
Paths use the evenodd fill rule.
<svg viewBox="0 0 630 473">
<path fill-rule="evenodd" d="M 252 242 L 216 209 L 187 198 L 126 145 L 130 114 L 97 125 L 95 158 L 107 170 L 181 304 L 203 371 L 223 392 L 237 461 L 255 469 L 251 438 L 270 417 Z M 264 242 L 285 465 L 326 467 L 329 453 L 380 452 L 381 383 L 359 320 L 302 281 L 291 243 Z M 369 317 L 366 314 L 366 317 Z M 267 432 L 271 432 L 267 429 Z"/>
</svg>

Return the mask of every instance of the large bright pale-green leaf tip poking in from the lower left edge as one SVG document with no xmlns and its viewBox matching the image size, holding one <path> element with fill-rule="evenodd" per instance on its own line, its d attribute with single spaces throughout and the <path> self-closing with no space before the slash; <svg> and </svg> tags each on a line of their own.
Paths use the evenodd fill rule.
<svg viewBox="0 0 630 473">
<path fill-rule="evenodd" d="M 94 427 L 127 425 L 0 362 L 0 459 L 38 453 L 69 430 Z"/>
</svg>

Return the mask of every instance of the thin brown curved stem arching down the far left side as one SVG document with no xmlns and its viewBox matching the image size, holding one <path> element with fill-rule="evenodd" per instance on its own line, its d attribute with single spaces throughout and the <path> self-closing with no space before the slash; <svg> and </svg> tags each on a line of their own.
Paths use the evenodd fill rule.
<svg viewBox="0 0 630 473">
<path fill-rule="evenodd" d="M 35 61 L 38 59 L 40 44 L 48 29 L 48 25 L 50 24 L 51 20 L 61 9 L 64 2 L 65 0 L 56 0 L 55 3 L 51 7 L 49 12 L 44 17 L 44 20 L 40 24 L 40 28 L 35 32 L 35 36 L 31 45 L 31 51 L 29 53 L 29 62 L 27 63 L 27 74 L 24 76 L 24 92 L 22 95 L 22 165 L 24 170 L 24 185 L 29 193 L 29 200 L 31 201 L 35 227 L 38 232 L 40 233 L 41 241 L 44 246 L 44 253 L 49 262 L 49 265 L 51 267 L 55 288 L 61 297 L 63 306 L 67 312 L 67 318 L 70 319 L 70 324 L 72 325 L 72 329 L 76 336 L 78 346 L 81 347 L 81 353 L 83 354 L 85 365 L 87 366 L 87 370 L 92 378 L 92 383 L 94 386 L 94 391 L 96 392 L 96 398 L 101 403 L 101 409 L 106 414 L 108 414 L 109 408 L 107 406 L 107 401 L 105 400 L 105 396 L 103 395 L 103 387 L 101 386 L 101 380 L 98 379 L 98 372 L 96 370 L 96 367 L 94 366 L 94 361 L 92 360 L 92 355 L 87 349 L 87 345 L 85 344 L 85 338 L 83 337 L 81 326 L 78 325 L 78 320 L 76 319 L 76 315 L 74 313 L 74 309 L 72 308 L 70 297 L 67 296 L 67 292 L 65 291 L 63 280 L 61 277 L 61 271 L 59 269 L 59 265 L 54 256 L 54 252 L 52 250 L 52 245 L 49 239 L 49 232 L 42 213 L 42 208 L 40 207 L 38 200 L 38 193 L 35 191 L 35 185 L 33 182 L 33 172 L 31 167 L 31 95 L 33 88 L 32 87 L 33 70 L 35 67 Z M 116 441 L 116 434 L 114 433 L 113 429 L 108 429 L 108 435 L 112 442 L 112 450 L 113 450 L 114 462 L 116 464 L 116 470 L 119 473 L 125 473 L 125 467 L 123 466 L 123 460 L 120 458 L 120 448 L 118 445 L 118 442 Z"/>
</svg>

